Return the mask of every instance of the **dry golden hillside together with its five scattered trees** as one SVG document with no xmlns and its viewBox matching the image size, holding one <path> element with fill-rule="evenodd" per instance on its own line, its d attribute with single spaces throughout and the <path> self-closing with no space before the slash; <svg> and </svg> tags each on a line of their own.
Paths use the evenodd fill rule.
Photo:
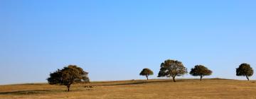
<svg viewBox="0 0 256 99">
<path fill-rule="evenodd" d="M 158 77 L 169 79 L 148 79 L 153 75 L 150 69 L 143 69 L 139 75 L 146 80 L 92 81 L 87 72 L 75 65 L 50 73 L 48 83 L 27 83 L 0 86 L 0 98 L 92 98 L 92 99 L 169 99 L 169 98 L 256 98 L 256 81 L 249 81 L 253 75 L 250 64 L 241 64 L 237 76 L 246 76 L 247 81 L 206 78 L 213 71 L 203 65 L 191 69 L 198 79 L 176 79 L 188 71 L 181 62 L 168 59 L 161 63 Z M 172 78 L 172 79 L 171 79 Z M 64 86 L 60 86 L 64 85 Z M 71 88 L 71 89 L 70 89 Z"/>
</svg>

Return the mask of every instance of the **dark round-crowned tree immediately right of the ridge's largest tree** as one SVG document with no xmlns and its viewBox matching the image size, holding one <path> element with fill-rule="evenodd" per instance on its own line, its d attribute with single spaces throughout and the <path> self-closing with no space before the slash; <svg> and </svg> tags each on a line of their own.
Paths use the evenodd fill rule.
<svg viewBox="0 0 256 99">
<path fill-rule="evenodd" d="M 200 76 L 200 81 L 202 81 L 203 76 L 209 76 L 212 74 L 206 66 L 203 65 L 196 65 L 194 68 L 191 69 L 190 73 L 192 76 Z"/>
</svg>

